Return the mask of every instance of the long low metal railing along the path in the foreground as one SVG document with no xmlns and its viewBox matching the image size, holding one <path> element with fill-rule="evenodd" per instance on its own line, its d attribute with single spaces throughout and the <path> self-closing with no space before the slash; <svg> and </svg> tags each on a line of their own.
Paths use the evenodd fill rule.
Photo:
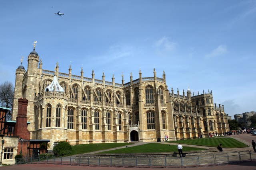
<svg viewBox="0 0 256 170">
<path fill-rule="evenodd" d="M 132 167 L 188 167 L 188 166 L 216 166 L 221 164 L 235 164 L 245 161 L 255 161 L 256 152 L 253 150 L 241 152 L 218 152 L 218 154 L 187 154 L 179 157 L 174 154 L 145 154 L 145 155 L 95 155 L 95 156 L 65 156 L 40 160 L 39 157 L 24 157 L 16 160 L 16 164 L 62 164 L 80 166 L 132 166 Z"/>
</svg>

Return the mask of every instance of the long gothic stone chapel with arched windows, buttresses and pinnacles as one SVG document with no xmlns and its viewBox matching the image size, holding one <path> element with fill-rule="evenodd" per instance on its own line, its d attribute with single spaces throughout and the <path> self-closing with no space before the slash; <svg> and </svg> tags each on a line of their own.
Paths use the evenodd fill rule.
<svg viewBox="0 0 256 170">
<path fill-rule="evenodd" d="M 38 66 L 39 64 L 39 66 Z M 16 69 L 12 119 L 16 119 L 18 98 L 28 100 L 28 130 L 31 139 L 68 139 L 70 144 L 148 142 L 192 139 L 202 133 L 223 133 L 229 130 L 224 106 L 214 105 L 212 92 L 191 96 L 188 89 L 174 94 L 166 85 L 166 75 L 142 77 L 118 84 L 42 69 L 42 59 L 35 49 L 28 55 L 28 68 Z M 46 91 L 54 75 L 64 92 Z"/>
</svg>

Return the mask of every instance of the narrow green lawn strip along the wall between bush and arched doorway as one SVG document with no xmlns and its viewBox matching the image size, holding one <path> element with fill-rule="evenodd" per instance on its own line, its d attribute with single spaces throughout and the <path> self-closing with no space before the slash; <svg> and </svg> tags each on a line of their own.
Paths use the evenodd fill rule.
<svg viewBox="0 0 256 170">
<path fill-rule="evenodd" d="M 122 147 L 125 145 L 132 145 L 133 143 L 98 143 L 98 144 L 82 144 L 82 145 L 74 145 L 72 146 L 73 154 L 81 154 L 87 152 L 94 152 L 97 150 L 104 150 L 116 147 Z"/>
</svg>

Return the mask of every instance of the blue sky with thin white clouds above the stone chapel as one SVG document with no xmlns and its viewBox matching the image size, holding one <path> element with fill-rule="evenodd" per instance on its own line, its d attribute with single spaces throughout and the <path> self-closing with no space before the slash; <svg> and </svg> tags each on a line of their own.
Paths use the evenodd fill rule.
<svg viewBox="0 0 256 170">
<path fill-rule="evenodd" d="M 54 12 L 64 12 L 59 17 Z M 21 56 L 36 51 L 43 69 L 121 83 L 166 72 L 176 91 L 213 91 L 234 115 L 256 111 L 256 1 L 2 0 L 0 83 L 15 82 Z M 233 117 L 234 118 L 234 117 Z"/>
</svg>

